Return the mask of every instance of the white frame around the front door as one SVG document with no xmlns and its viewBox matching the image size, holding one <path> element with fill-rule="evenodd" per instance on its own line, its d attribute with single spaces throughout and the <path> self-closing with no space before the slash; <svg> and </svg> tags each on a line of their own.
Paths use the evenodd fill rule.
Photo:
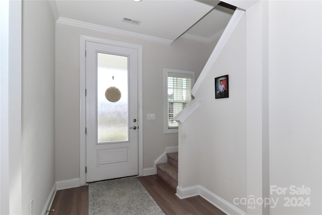
<svg viewBox="0 0 322 215">
<path fill-rule="evenodd" d="M 142 64 L 142 45 L 133 43 L 126 43 L 116 40 L 92 37 L 81 35 L 79 40 L 79 185 L 86 184 L 86 41 L 102 43 L 107 45 L 115 45 L 126 48 L 133 48 L 137 50 L 138 68 L 137 68 L 137 105 L 138 105 L 138 175 L 143 175 L 143 111 L 142 111 L 142 97 L 143 97 L 143 64 Z"/>
</svg>

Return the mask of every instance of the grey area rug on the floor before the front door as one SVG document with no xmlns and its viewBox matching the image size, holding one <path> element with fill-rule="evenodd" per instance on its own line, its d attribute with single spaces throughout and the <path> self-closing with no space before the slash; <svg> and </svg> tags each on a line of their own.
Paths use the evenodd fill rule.
<svg viewBox="0 0 322 215">
<path fill-rule="evenodd" d="M 89 185 L 89 215 L 99 214 L 165 213 L 135 177 Z"/>
</svg>

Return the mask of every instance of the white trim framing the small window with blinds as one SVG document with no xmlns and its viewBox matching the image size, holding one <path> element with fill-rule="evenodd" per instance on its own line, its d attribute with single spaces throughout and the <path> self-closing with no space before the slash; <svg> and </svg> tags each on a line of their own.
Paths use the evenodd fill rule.
<svg viewBox="0 0 322 215">
<path fill-rule="evenodd" d="M 178 133 L 178 128 L 169 128 L 168 127 L 168 74 L 178 74 L 178 75 L 187 75 L 187 77 L 192 76 L 191 88 L 195 84 L 195 72 L 182 69 L 173 69 L 173 68 L 164 68 L 163 69 L 163 82 L 164 82 L 164 133 Z"/>
</svg>

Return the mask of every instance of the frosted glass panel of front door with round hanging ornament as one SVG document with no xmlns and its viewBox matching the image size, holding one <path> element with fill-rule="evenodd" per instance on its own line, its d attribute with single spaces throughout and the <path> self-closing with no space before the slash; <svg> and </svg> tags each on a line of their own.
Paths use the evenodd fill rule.
<svg viewBox="0 0 322 215">
<path fill-rule="evenodd" d="M 128 57 L 97 54 L 98 142 L 128 141 Z"/>
</svg>

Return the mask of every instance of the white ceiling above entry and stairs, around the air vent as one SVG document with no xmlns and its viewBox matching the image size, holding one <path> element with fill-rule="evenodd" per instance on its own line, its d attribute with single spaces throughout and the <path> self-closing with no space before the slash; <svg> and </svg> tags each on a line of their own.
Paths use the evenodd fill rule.
<svg viewBox="0 0 322 215">
<path fill-rule="evenodd" d="M 222 32 L 233 13 L 230 9 L 217 6 L 217 0 L 56 0 L 55 3 L 52 8 L 56 10 L 54 14 L 58 15 L 60 22 L 94 26 L 165 43 L 172 43 L 184 33 L 209 41 Z M 141 23 L 125 23 L 123 18 Z"/>
</svg>

